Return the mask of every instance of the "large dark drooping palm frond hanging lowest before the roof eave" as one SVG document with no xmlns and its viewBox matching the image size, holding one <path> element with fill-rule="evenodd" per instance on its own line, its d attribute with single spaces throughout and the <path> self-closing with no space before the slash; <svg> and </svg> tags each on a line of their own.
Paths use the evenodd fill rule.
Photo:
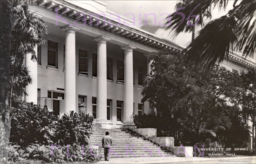
<svg viewBox="0 0 256 164">
<path fill-rule="evenodd" d="M 208 70 L 216 62 L 219 64 L 237 42 L 235 26 L 236 20 L 232 17 L 222 16 L 212 20 L 186 47 L 183 60 L 194 66 L 205 65 Z"/>
</svg>

